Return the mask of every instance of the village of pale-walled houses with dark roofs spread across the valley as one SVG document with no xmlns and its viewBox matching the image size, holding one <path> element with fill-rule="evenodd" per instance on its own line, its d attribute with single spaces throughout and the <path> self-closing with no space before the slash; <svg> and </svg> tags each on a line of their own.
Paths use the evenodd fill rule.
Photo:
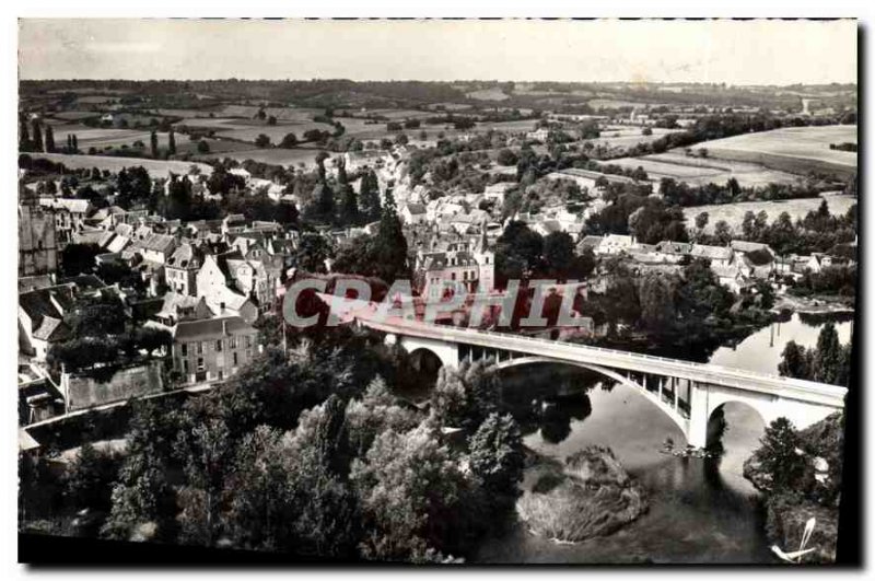
<svg viewBox="0 0 875 581">
<path fill-rule="evenodd" d="M 557 135 L 574 132 L 581 124 L 585 127 L 626 124 L 646 132 L 650 127 L 664 124 L 666 116 L 673 127 L 682 128 L 703 115 L 693 108 L 689 118 L 678 117 L 679 113 L 682 112 L 651 116 L 632 111 L 628 118 L 545 114 L 544 120 L 533 124 L 533 130 L 511 132 L 500 142 L 518 151 L 521 144 L 553 143 Z M 827 114 L 830 112 L 808 113 L 814 115 L 812 118 Z M 453 143 L 464 146 L 477 139 L 482 136 L 460 132 Z M 833 264 L 852 265 L 855 259 L 853 255 L 825 253 L 784 255 L 768 244 L 743 240 L 730 240 L 723 245 L 686 240 L 645 244 L 631 234 L 586 235 L 587 220 L 610 206 L 611 189 L 643 188 L 651 198 L 661 199 L 663 182 L 642 172 L 603 172 L 580 164 L 558 166 L 544 173 L 538 183 L 574 188 L 580 191 L 578 202 L 547 196 L 534 207 L 524 205 L 509 211 L 509 196 L 514 193 L 518 196 L 521 189 L 513 165 L 495 167 L 480 193 L 454 186 L 435 195 L 428 173 L 413 179 L 410 171 L 417 151 L 433 147 L 432 143 L 397 140 L 388 147 L 371 146 L 336 155 L 326 163 L 325 171 L 332 179 L 341 172 L 355 176 L 350 186 L 359 194 L 361 176 L 370 173 L 376 176 L 380 195 L 394 199 L 407 240 L 413 292 L 420 302 L 440 301 L 447 282 L 460 282 L 471 293 L 500 293 L 495 244 L 511 222 L 523 223 L 544 237 L 565 233 L 575 253 L 592 253 L 597 260 L 619 257 L 635 275 L 649 270 L 679 271 L 691 260 L 703 258 L 720 283 L 735 294 L 750 291 L 758 280 L 778 280 L 779 276 L 798 279 L 805 272 L 819 272 Z M 503 170 L 508 171 L 502 173 Z M 244 196 L 266 195 L 277 207 L 302 209 L 300 197 L 284 184 L 253 175 L 240 164 L 230 169 L 229 174 L 244 184 Z M 89 183 L 107 202 L 102 207 L 70 195 L 69 188 L 65 194 L 60 181 L 49 184 L 31 178 L 25 169 L 20 170 L 20 178 L 24 184 L 19 206 L 23 423 L 162 393 L 171 383 L 178 388 L 205 388 L 224 381 L 264 349 L 259 325 L 272 321 L 270 317 L 278 312 L 287 286 L 302 271 L 299 264 L 302 237 L 317 236 L 327 247 L 336 248 L 351 241 L 354 244 L 358 236 L 373 235 L 378 225 L 378 222 L 345 228 L 317 224 L 314 231 L 302 233 L 298 225 L 249 220 L 242 213 L 182 221 L 116 205 L 114 188 L 107 187 L 115 179 L 110 172 L 93 175 Z M 210 191 L 209 176 L 195 165 L 184 175 L 168 171 L 162 176 L 152 172 L 150 179 L 152 188 L 164 196 L 171 196 L 172 189 L 182 183 L 194 198 L 222 199 L 221 193 Z M 62 275 L 60 266 L 68 245 L 98 248 L 84 272 Z M 325 258 L 320 266 L 325 272 L 337 272 L 332 264 L 331 258 Z M 130 276 L 110 283 L 101 278 L 101 272 Z M 596 269 L 588 280 L 576 281 L 571 289 L 558 283 L 557 290 L 575 292 L 585 300 L 590 291 L 605 291 L 605 279 L 599 272 Z M 112 368 L 101 381 L 94 379 L 93 365 L 84 365 L 90 370 L 86 373 L 61 369 L 52 375 L 47 363 L 52 345 L 71 337 L 71 318 L 81 304 L 95 300 L 113 300 L 124 305 L 127 326 L 166 332 L 170 345 L 140 349 L 141 357 L 132 357 L 125 364 L 97 363 L 97 368 Z M 599 332 L 592 318 L 576 315 L 579 327 L 563 329 L 563 336 Z"/>
</svg>

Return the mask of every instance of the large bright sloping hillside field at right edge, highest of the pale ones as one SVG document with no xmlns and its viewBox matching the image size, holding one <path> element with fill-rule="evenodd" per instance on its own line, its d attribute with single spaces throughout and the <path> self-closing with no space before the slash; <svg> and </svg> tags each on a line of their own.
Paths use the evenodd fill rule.
<svg viewBox="0 0 875 581">
<path fill-rule="evenodd" d="M 856 153 L 829 149 L 830 143 L 856 143 L 855 125 L 786 127 L 699 143 L 710 156 L 760 163 L 772 170 L 856 173 Z"/>
</svg>

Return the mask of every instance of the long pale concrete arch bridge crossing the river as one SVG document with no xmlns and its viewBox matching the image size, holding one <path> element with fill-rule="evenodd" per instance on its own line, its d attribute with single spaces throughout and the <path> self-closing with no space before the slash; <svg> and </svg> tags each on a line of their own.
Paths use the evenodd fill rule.
<svg viewBox="0 0 875 581">
<path fill-rule="evenodd" d="M 687 443 L 704 446 L 712 415 L 726 403 L 754 408 L 766 425 L 785 417 L 797 429 L 844 407 L 845 387 L 739 369 L 692 363 L 521 335 L 434 325 L 399 317 L 380 321 L 361 311 L 358 325 L 386 333 L 408 352 L 431 352 L 445 367 L 491 358 L 500 370 L 535 363 L 588 369 L 637 388 L 680 428 Z"/>
</svg>

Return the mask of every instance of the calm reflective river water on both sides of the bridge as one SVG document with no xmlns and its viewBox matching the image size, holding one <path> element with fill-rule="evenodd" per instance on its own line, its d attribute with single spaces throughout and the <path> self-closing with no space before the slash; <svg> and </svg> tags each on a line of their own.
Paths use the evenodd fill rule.
<svg viewBox="0 0 875 581">
<path fill-rule="evenodd" d="M 760 329 L 738 345 L 721 347 L 710 361 L 777 373 L 789 340 L 817 342 L 822 323 L 798 315 Z M 851 323 L 837 323 L 848 342 Z M 685 439 L 675 423 L 635 390 L 564 365 L 509 370 L 505 398 L 523 426 L 525 443 L 564 460 L 592 444 L 609 446 L 626 469 L 646 488 L 650 510 L 604 537 L 557 544 L 530 534 L 521 523 L 501 538 L 487 541 L 477 562 L 775 562 L 765 534 L 759 495 L 742 475 L 765 426 L 742 404 L 724 408 L 725 453 L 718 460 L 680 458 L 658 452 L 665 439 Z M 527 474 L 532 476 L 532 474 Z M 532 486 L 526 478 L 524 487 Z"/>
</svg>

